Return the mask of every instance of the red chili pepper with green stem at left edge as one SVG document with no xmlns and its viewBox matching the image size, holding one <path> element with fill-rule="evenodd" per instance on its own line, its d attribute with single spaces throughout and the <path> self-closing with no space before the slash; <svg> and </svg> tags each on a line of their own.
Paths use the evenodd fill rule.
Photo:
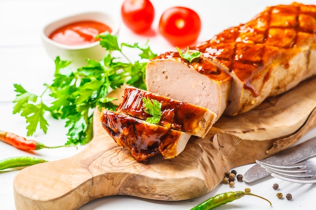
<svg viewBox="0 0 316 210">
<path fill-rule="evenodd" d="M 47 147 L 42 143 L 36 142 L 34 140 L 28 140 L 17 134 L 2 131 L 2 130 L 0 130 L 0 140 L 20 150 L 41 150 L 44 148 L 52 149 L 52 148 L 61 148 L 61 147 L 76 147 L 74 145 Z"/>
</svg>

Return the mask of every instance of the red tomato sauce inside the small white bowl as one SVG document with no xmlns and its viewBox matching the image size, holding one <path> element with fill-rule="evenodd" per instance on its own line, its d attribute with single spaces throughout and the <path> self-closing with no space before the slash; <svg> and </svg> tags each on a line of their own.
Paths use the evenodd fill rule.
<svg viewBox="0 0 316 210">
<path fill-rule="evenodd" d="M 95 36 L 112 29 L 96 21 L 79 21 L 63 26 L 52 32 L 48 37 L 61 44 L 83 45 L 97 41 Z"/>
</svg>

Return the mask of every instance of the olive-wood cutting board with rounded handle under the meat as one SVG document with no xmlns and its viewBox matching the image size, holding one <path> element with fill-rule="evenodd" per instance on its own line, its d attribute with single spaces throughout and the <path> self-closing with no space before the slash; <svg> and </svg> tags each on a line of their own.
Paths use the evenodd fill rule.
<svg viewBox="0 0 316 210">
<path fill-rule="evenodd" d="M 284 150 L 316 126 L 316 78 L 255 110 L 221 117 L 205 138 L 191 137 L 171 160 L 136 162 L 94 113 L 94 137 L 79 154 L 34 165 L 14 178 L 17 210 L 72 210 L 95 198 L 131 195 L 184 200 L 213 190 L 230 169 Z"/>
</svg>

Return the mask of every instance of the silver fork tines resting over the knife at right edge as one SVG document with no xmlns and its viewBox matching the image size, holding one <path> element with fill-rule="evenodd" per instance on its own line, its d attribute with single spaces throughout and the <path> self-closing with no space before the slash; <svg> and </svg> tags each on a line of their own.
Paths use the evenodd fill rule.
<svg viewBox="0 0 316 210">
<path fill-rule="evenodd" d="M 316 183 L 316 158 L 292 165 L 274 165 L 255 161 L 271 173 L 271 176 L 295 183 Z"/>
</svg>

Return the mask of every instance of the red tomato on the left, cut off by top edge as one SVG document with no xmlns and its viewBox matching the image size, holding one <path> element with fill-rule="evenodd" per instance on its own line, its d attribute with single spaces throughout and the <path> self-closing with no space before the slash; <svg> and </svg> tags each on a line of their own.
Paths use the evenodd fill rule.
<svg viewBox="0 0 316 210">
<path fill-rule="evenodd" d="M 147 31 L 154 19 L 154 8 L 149 0 L 125 0 L 121 7 L 123 23 L 132 31 Z"/>
</svg>

